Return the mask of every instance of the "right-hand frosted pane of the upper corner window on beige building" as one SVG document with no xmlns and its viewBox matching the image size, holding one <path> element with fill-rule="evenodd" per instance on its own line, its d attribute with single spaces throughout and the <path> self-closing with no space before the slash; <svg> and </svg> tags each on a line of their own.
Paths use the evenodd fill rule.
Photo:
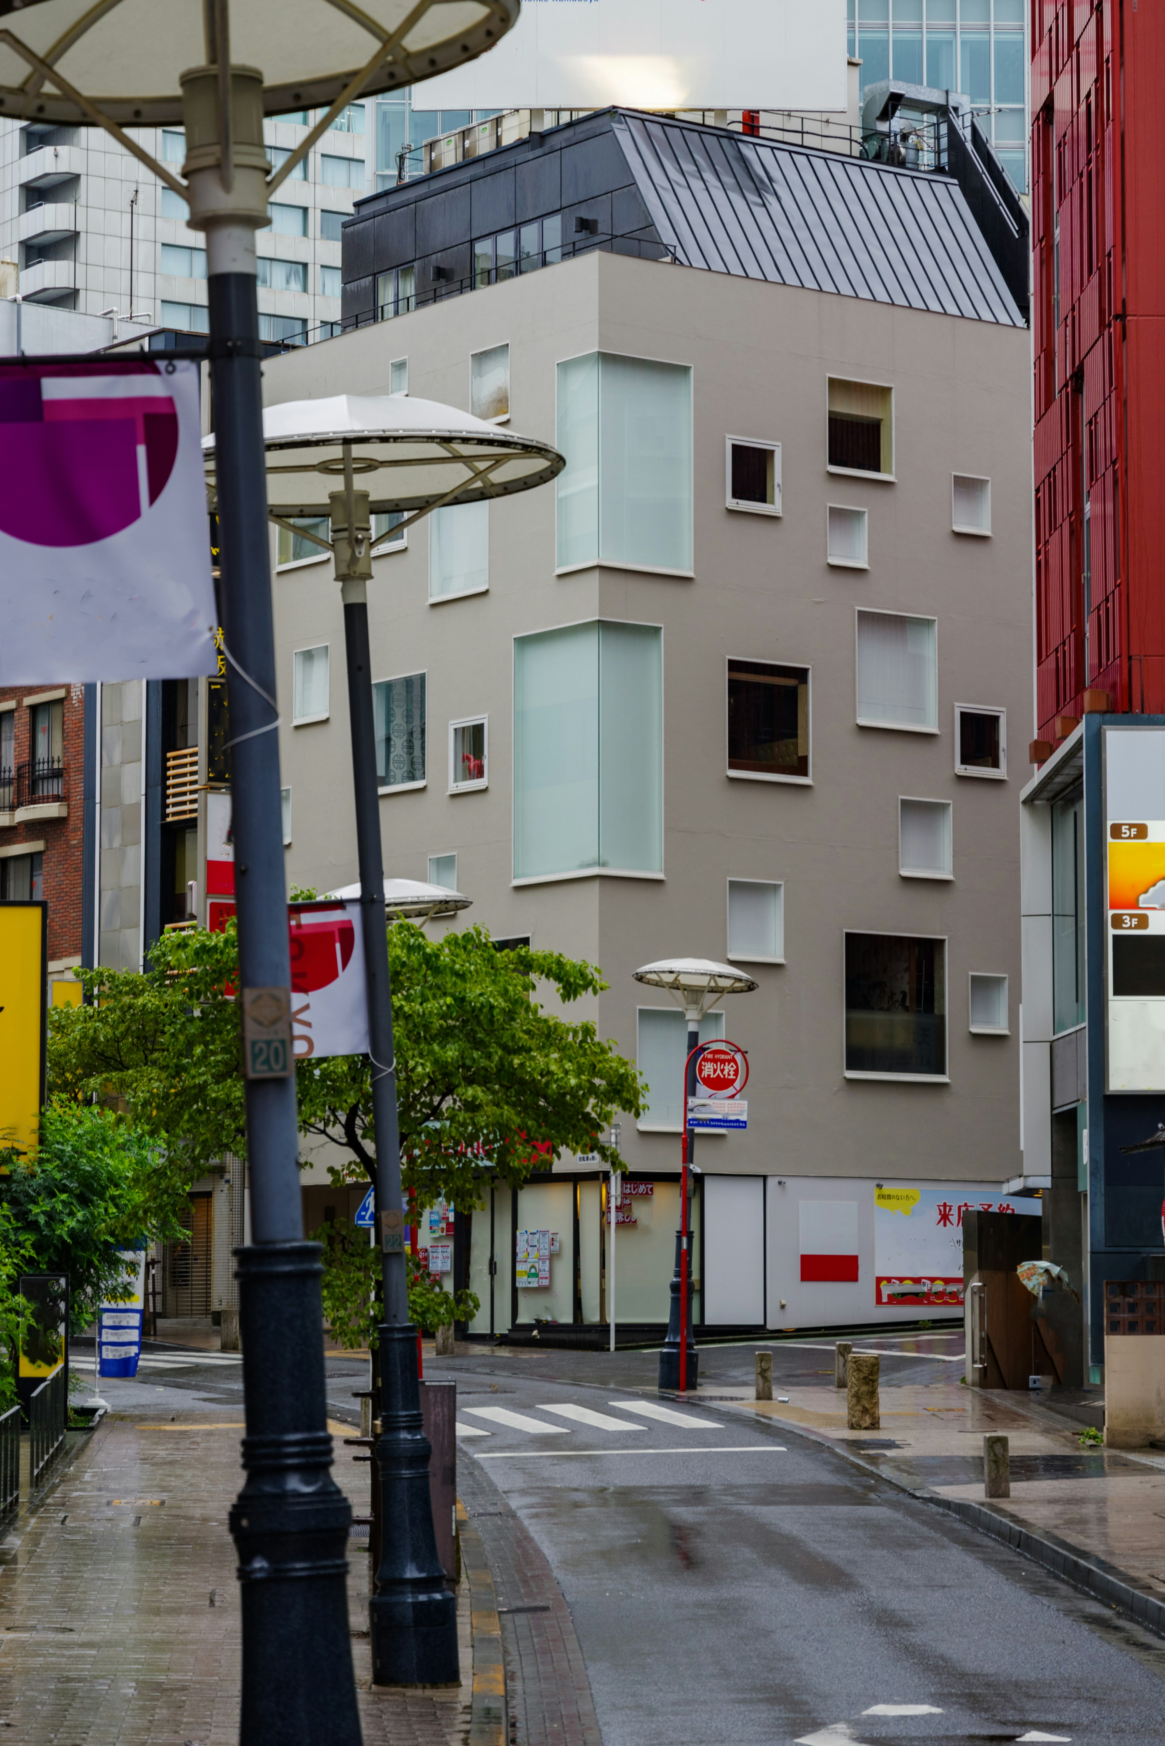
<svg viewBox="0 0 1165 1746">
<path fill-rule="evenodd" d="M 599 553 L 692 569 L 692 370 L 603 354 Z"/>
</svg>

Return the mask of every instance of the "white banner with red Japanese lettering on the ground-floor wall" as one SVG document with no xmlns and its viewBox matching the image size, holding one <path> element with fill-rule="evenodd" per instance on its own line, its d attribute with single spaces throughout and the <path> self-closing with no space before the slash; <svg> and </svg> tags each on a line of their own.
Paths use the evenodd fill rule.
<svg viewBox="0 0 1165 1746">
<path fill-rule="evenodd" d="M 941 1304 L 962 1303 L 962 1215 L 1010 1212 L 1039 1219 L 1041 1201 L 1031 1196 L 1001 1196 L 997 1187 L 950 1182 L 920 1189 L 910 1182 L 886 1182 L 873 1191 L 875 1303 Z"/>
</svg>

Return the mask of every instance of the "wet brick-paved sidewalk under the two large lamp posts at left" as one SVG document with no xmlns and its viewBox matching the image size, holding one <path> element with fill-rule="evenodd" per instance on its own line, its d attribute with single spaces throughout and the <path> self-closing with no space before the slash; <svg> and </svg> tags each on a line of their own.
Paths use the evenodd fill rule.
<svg viewBox="0 0 1165 1746">
<path fill-rule="evenodd" d="M 239 1584 L 227 1510 L 241 1423 L 110 1416 L 0 1545 L 0 1727 L 12 1746 L 236 1746 Z M 344 1435 L 351 1426 L 334 1425 Z M 367 1514 L 367 1467 L 334 1474 Z M 470 1529 L 472 1531 L 472 1529 Z M 472 1561 L 470 1561 L 472 1563 Z M 365 1746 L 493 1746 L 496 1613 L 461 1582 L 459 1690 L 372 1690 L 367 1538 L 351 1542 L 349 1620 Z M 473 1634 L 482 1643 L 475 1669 Z M 278 1692 L 272 1694 L 278 1704 Z"/>
</svg>

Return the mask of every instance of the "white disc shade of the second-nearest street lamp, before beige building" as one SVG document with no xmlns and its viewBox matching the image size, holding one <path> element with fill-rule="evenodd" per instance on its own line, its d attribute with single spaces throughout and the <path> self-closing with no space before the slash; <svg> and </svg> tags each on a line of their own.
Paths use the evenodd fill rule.
<svg viewBox="0 0 1165 1746">
<path fill-rule="evenodd" d="M 430 508 L 456 487 L 458 503 L 505 498 L 548 484 L 566 466 L 550 443 L 407 395 L 335 395 L 267 407 L 264 443 L 267 501 L 283 517 L 328 513 L 330 492 L 344 485 L 346 447 L 353 482 L 369 492 L 374 515 Z M 213 489 L 215 438 L 206 436 L 203 449 Z"/>
</svg>

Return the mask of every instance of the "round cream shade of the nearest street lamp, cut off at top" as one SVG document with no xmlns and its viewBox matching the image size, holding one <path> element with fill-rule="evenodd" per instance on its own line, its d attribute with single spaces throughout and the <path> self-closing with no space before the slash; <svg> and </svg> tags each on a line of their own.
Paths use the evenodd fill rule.
<svg viewBox="0 0 1165 1746">
<path fill-rule="evenodd" d="M 121 126 L 182 122 L 180 77 L 213 59 L 204 10 L 204 0 L 0 0 L 0 115 L 91 122 L 80 91 Z M 232 0 L 231 61 L 262 70 L 264 112 L 279 115 L 335 101 L 362 68 L 353 96 L 463 66 L 517 16 L 519 0 Z M 56 89 L 17 44 L 73 91 Z"/>
</svg>

